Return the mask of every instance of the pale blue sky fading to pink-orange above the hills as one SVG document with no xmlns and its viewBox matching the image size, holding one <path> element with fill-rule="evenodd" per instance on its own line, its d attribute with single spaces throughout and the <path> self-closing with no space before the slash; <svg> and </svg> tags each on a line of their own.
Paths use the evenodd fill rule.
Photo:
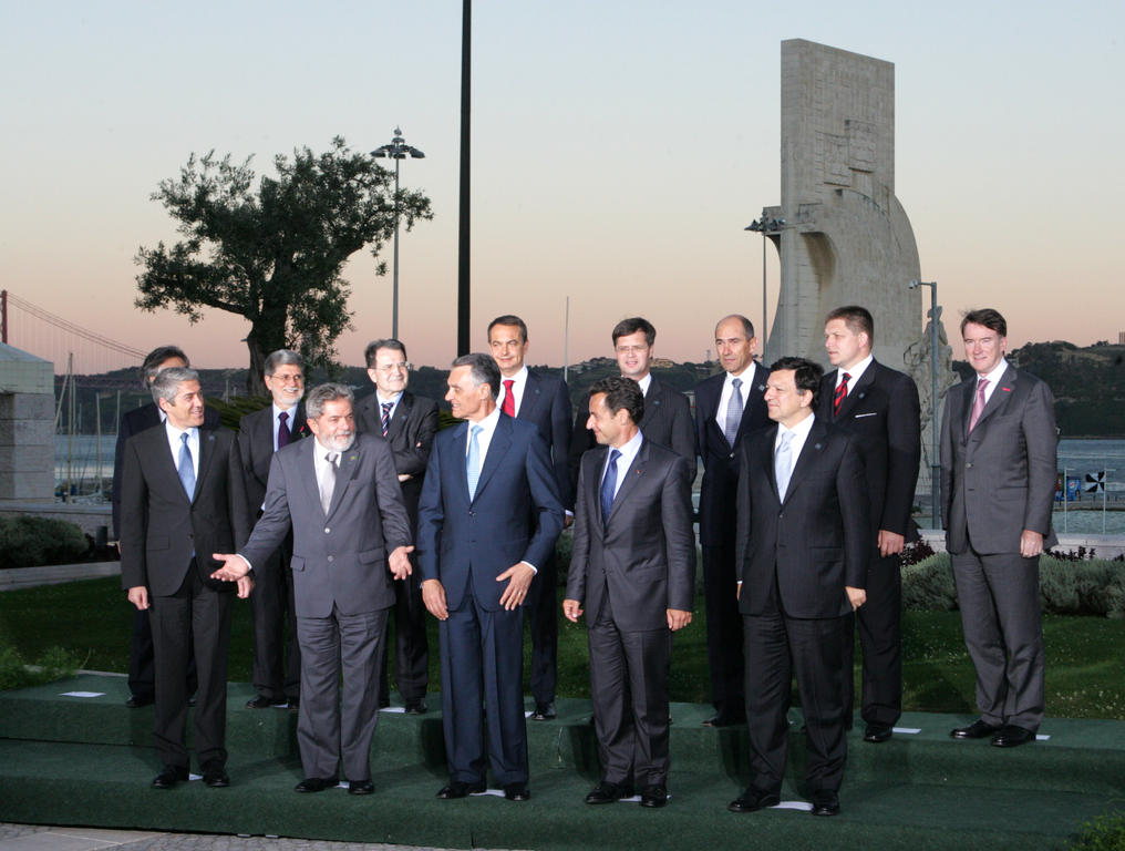
<svg viewBox="0 0 1125 851">
<path fill-rule="evenodd" d="M 402 239 L 399 335 L 415 362 L 447 364 L 460 10 L 4 1 L 0 286 L 137 349 L 245 366 L 244 321 L 134 308 L 137 248 L 177 235 L 151 192 L 192 152 L 253 155 L 261 174 L 276 153 L 335 135 L 368 151 L 398 125 L 426 154 L 403 182 L 435 213 Z M 530 361 L 560 365 L 567 296 L 572 362 L 609 355 L 626 315 L 676 360 L 702 360 L 723 314 L 758 323 L 762 239 L 742 229 L 781 200 L 785 38 L 894 63 L 896 190 L 947 326 L 989 305 L 1014 344 L 1125 330 L 1119 0 L 478 0 L 472 25 L 474 348 L 519 313 Z M 771 302 L 777 274 L 771 257 Z M 339 352 L 356 364 L 390 332 L 390 276 L 359 256 L 345 277 L 356 330 Z"/>
</svg>

